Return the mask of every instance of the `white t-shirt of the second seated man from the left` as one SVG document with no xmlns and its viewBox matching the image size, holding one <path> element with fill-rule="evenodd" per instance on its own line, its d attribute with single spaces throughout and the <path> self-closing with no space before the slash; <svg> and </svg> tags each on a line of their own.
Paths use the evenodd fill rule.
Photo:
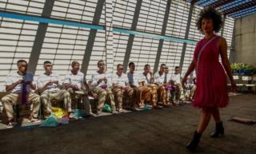
<svg viewBox="0 0 256 154">
<path fill-rule="evenodd" d="M 62 80 L 57 73 L 50 73 L 50 75 L 46 75 L 45 73 L 43 73 L 38 77 L 38 88 L 42 88 L 49 81 L 58 81 L 58 85 L 62 85 Z M 58 85 L 47 85 L 46 90 L 44 92 L 59 90 Z"/>
</svg>

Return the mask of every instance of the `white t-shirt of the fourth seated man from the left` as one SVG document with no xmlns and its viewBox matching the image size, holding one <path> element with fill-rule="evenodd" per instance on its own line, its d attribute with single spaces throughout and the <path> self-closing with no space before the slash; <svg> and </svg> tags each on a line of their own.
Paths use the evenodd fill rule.
<svg viewBox="0 0 256 154">
<path fill-rule="evenodd" d="M 98 80 L 104 79 L 106 77 L 106 82 L 102 80 L 98 84 Z M 92 86 L 94 87 L 102 87 L 104 85 L 111 86 L 112 85 L 112 74 L 111 73 L 98 73 L 98 71 L 92 76 Z"/>
</svg>

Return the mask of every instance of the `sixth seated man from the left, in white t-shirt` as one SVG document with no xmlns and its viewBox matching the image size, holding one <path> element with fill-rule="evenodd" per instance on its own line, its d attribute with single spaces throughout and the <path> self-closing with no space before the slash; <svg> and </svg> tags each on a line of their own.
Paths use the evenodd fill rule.
<svg viewBox="0 0 256 154">
<path fill-rule="evenodd" d="M 135 105 L 137 105 L 138 108 L 141 108 L 144 105 L 145 100 L 150 100 L 151 89 L 150 87 L 142 86 L 145 81 L 142 78 L 142 75 L 138 73 L 134 73 L 134 69 L 135 69 L 134 62 L 129 63 L 129 69 L 130 69 L 130 72 L 127 73 L 127 77 L 128 77 L 130 86 L 134 89 L 134 96 L 133 96 L 134 106 L 132 106 L 132 109 L 138 110 L 135 108 Z"/>
</svg>

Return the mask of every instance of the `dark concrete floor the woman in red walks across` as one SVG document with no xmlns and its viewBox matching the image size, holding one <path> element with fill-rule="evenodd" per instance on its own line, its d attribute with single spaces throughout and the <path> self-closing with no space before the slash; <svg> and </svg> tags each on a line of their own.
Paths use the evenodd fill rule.
<svg viewBox="0 0 256 154">
<path fill-rule="evenodd" d="M 199 110 L 191 105 L 170 109 L 98 116 L 58 128 L 0 130 L 1 154 L 252 154 L 256 152 L 256 124 L 230 121 L 232 116 L 256 120 L 256 95 L 230 97 L 222 109 L 226 135 L 213 139 L 214 121 L 203 134 L 197 151 L 185 146 L 198 124 Z"/>
</svg>

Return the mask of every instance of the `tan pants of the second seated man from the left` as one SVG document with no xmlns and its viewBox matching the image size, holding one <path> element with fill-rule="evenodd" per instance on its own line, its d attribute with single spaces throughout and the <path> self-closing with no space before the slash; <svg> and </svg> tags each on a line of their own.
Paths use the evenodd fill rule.
<svg viewBox="0 0 256 154">
<path fill-rule="evenodd" d="M 43 105 L 46 107 L 47 113 L 51 113 L 51 101 L 53 100 L 64 101 L 67 112 L 70 113 L 72 111 L 70 93 L 64 89 L 53 92 L 43 92 L 40 98 Z"/>
</svg>

